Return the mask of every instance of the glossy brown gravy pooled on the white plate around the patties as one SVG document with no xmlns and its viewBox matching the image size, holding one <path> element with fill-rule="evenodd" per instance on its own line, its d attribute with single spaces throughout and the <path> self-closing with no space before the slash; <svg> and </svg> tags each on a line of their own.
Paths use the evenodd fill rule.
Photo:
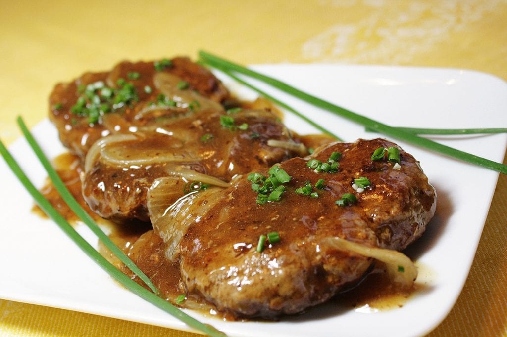
<svg viewBox="0 0 507 337">
<path fill-rule="evenodd" d="M 301 137 L 301 141 L 308 147 L 317 147 L 326 141 L 329 142 L 329 138 L 305 136 Z M 206 303 L 204 300 L 189 296 L 185 293 L 185 287 L 180 279 L 179 263 L 177 261 L 170 262 L 165 258 L 163 241 L 153 232 L 150 224 L 136 223 L 133 225 L 124 224 L 119 226 L 103 220 L 89 210 L 81 193 L 81 180 L 79 177 L 82 168 L 80 167 L 79 157 L 70 153 L 64 153 L 54 160 L 54 166 L 58 175 L 62 178 L 76 200 L 101 227 L 105 227 L 105 230 L 111 233 L 111 239 L 153 281 L 160 290 L 161 297 L 179 307 L 198 310 L 201 313 L 219 317 L 224 320 L 238 319 L 238 317 L 232 313 L 220 312 L 213 305 Z M 60 197 L 49 179 L 41 189 L 41 192 L 67 221 L 73 224 L 78 221 L 76 215 Z M 34 206 L 33 211 L 39 215 L 45 216 L 38 206 Z M 101 242 L 98 244 L 98 250 L 117 268 L 129 275 L 139 284 L 147 287 Z M 419 270 L 421 270 L 421 266 L 419 266 Z M 425 282 L 416 282 L 411 289 L 396 287 L 387 277 L 387 273 L 380 266 L 377 266 L 359 282 L 359 284 L 335 296 L 332 303 L 345 309 L 368 313 L 401 308 L 409 298 L 423 291 L 426 287 Z M 185 296 L 185 300 L 176 303 L 176 299 L 182 295 Z"/>
</svg>

